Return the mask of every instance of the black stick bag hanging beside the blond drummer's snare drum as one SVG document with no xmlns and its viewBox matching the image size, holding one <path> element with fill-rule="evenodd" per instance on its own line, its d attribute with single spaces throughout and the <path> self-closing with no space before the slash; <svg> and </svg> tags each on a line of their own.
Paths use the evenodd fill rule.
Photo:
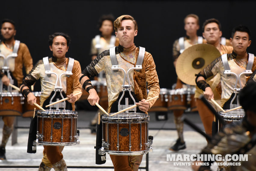
<svg viewBox="0 0 256 171">
<path fill-rule="evenodd" d="M 97 133 L 96 133 L 96 164 L 104 164 L 106 163 L 106 153 L 104 155 L 100 155 L 98 150 L 102 147 L 102 122 L 97 124 Z"/>
</svg>

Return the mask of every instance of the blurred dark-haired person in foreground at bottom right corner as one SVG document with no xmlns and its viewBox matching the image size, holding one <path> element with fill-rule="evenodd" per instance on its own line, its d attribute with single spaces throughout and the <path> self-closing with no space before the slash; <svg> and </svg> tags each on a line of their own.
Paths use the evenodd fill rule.
<svg viewBox="0 0 256 171">
<path fill-rule="evenodd" d="M 252 171 L 256 170 L 256 108 L 254 101 L 256 98 L 256 83 L 254 81 L 248 82 L 248 84 L 239 93 L 239 102 L 242 108 L 245 110 L 245 117 L 242 122 L 228 124 L 221 130 L 211 142 L 201 151 L 200 154 L 249 154 L 248 161 L 239 161 L 240 166 L 231 166 L 230 170 L 236 171 Z M 253 138 L 254 137 L 254 138 Z M 254 142 L 253 142 L 254 141 Z M 247 149 L 248 148 L 248 149 Z M 246 151 L 246 152 L 245 152 Z M 195 171 L 209 171 L 209 166 L 200 166 L 200 162 L 195 161 L 197 164 L 193 164 L 192 168 Z M 233 162 L 232 160 L 229 162 Z M 238 161 L 236 161 L 238 162 Z"/>
</svg>

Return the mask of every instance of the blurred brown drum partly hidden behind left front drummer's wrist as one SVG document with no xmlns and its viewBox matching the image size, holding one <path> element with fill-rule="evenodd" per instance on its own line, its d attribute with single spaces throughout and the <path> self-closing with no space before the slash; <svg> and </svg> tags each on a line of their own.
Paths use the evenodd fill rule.
<svg viewBox="0 0 256 171">
<path fill-rule="evenodd" d="M 32 93 L 36 97 L 37 104 L 40 105 L 41 92 L 32 92 Z M 24 101 L 24 104 L 23 104 L 23 115 L 22 115 L 22 117 L 33 117 L 34 108 L 36 108 L 36 110 L 39 110 L 39 108 L 36 107 L 35 105 L 28 104 L 28 98 L 25 97 L 25 101 Z"/>
</svg>

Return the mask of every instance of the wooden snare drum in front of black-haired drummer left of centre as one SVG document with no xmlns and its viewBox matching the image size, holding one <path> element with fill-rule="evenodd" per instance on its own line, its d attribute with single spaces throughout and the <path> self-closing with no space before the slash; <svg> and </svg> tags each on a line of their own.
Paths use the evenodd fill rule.
<svg viewBox="0 0 256 171">
<path fill-rule="evenodd" d="M 78 114 L 71 110 L 38 110 L 37 139 L 34 145 L 76 145 L 79 136 L 76 130 Z"/>
</svg>

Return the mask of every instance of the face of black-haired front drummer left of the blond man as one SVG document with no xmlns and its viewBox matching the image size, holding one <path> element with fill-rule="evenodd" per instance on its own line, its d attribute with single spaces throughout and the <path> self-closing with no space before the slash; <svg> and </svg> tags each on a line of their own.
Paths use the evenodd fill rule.
<svg viewBox="0 0 256 171">
<path fill-rule="evenodd" d="M 69 49 L 69 47 L 67 46 L 67 40 L 63 36 L 56 36 L 53 39 L 52 45 L 49 47 L 53 53 L 53 56 L 57 58 L 64 58 L 66 52 Z"/>
</svg>

